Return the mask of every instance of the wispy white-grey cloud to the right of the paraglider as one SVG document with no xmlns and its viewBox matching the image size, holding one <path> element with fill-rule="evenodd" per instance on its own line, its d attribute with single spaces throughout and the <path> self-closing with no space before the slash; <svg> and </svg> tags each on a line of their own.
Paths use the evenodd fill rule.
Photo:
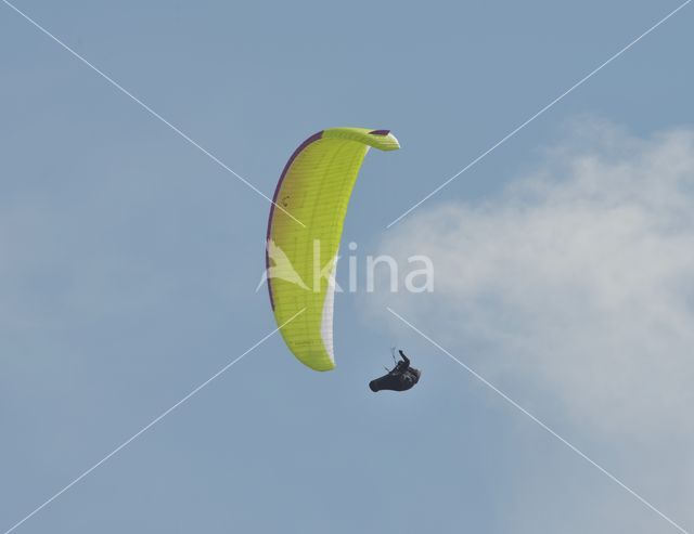
<svg viewBox="0 0 694 534">
<path fill-rule="evenodd" d="M 382 251 L 428 255 L 436 287 L 380 304 L 453 350 L 486 347 L 479 370 L 524 383 L 522 404 L 627 448 L 658 486 L 665 470 L 660 502 L 691 502 L 694 130 L 582 120 L 503 194 L 421 208 Z"/>
</svg>

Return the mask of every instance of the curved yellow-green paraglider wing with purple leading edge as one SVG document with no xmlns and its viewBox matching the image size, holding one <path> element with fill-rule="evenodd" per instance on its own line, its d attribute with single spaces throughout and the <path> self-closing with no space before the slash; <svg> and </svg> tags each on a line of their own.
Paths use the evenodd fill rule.
<svg viewBox="0 0 694 534">
<path fill-rule="evenodd" d="M 331 128 L 311 135 L 284 167 L 270 209 L 266 266 L 274 318 L 282 325 L 298 313 L 281 333 L 294 355 L 316 370 L 335 367 L 335 262 L 370 146 L 400 147 L 387 130 Z"/>
</svg>

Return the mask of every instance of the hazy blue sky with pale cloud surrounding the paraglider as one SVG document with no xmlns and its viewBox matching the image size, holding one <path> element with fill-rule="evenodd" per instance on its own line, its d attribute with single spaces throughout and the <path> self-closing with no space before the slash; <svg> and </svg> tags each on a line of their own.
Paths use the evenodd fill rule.
<svg viewBox="0 0 694 534">
<path fill-rule="evenodd" d="M 694 529 L 692 6 L 385 230 L 678 5 L 17 2 L 267 195 L 311 133 L 393 130 L 344 238 L 441 291 L 339 295 L 337 370 L 275 336 L 15 532 L 678 532 L 385 305 Z M 274 323 L 267 201 L 0 13 L 4 531 Z M 374 395 L 393 344 L 424 377 Z"/>
</svg>

